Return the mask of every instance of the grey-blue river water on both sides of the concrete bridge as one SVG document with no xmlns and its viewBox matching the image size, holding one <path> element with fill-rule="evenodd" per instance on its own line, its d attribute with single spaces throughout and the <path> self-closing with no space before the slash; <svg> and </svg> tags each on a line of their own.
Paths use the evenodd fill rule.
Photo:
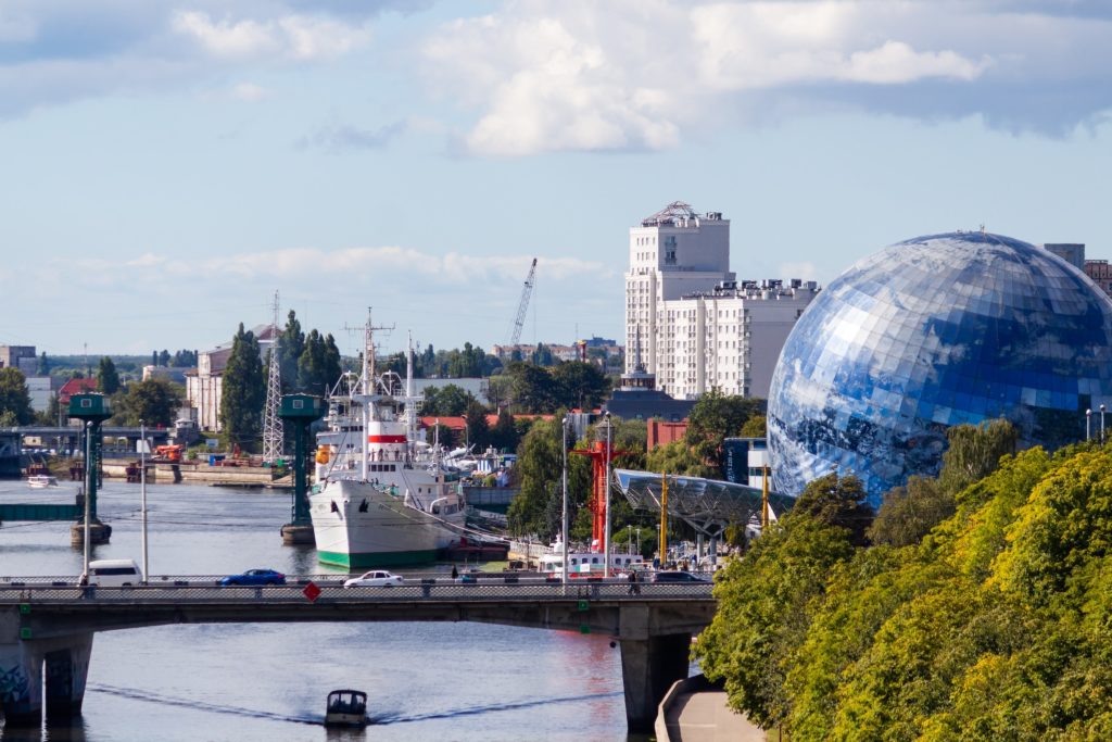
<svg viewBox="0 0 1112 742">
<path fill-rule="evenodd" d="M 0 502 L 72 502 L 75 484 L 0 481 Z M 284 546 L 290 495 L 148 485 L 150 572 L 225 575 L 250 567 L 336 572 Z M 111 543 L 93 558 L 141 563 L 140 487 L 98 492 Z M 68 523 L 0 527 L 0 575 L 78 575 Z M 436 568 L 449 571 L 450 565 Z M 471 623 L 175 625 L 102 632 L 83 714 L 0 740 L 620 740 L 622 663 L 610 637 Z M 321 725 L 325 696 L 368 693 L 366 731 Z"/>
</svg>

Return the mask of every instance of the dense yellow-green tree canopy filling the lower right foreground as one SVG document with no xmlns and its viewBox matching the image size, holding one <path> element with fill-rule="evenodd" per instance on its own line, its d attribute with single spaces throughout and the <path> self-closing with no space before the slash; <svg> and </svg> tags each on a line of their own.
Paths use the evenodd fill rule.
<svg viewBox="0 0 1112 742">
<path fill-rule="evenodd" d="M 986 452 L 991 427 L 955 435 Z M 840 507 L 800 503 L 719 574 L 696 653 L 734 708 L 801 742 L 1109 738 L 1112 451 L 972 458 L 993 468 L 917 541 L 855 548 Z"/>
</svg>

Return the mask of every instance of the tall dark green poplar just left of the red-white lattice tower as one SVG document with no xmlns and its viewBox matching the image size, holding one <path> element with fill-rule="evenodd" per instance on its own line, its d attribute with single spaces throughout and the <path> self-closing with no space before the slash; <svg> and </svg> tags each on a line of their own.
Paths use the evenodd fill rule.
<svg viewBox="0 0 1112 742">
<path fill-rule="evenodd" d="M 220 395 L 220 419 L 228 439 L 247 451 L 254 451 L 262 434 L 262 405 L 267 383 L 259 359 L 259 342 L 250 330 L 239 330 L 231 344 L 231 354 L 224 369 Z"/>
</svg>

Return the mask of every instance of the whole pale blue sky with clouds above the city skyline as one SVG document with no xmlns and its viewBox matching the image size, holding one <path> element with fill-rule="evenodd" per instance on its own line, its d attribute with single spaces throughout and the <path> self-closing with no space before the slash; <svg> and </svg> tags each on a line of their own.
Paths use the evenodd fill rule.
<svg viewBox="0 0 1112 742">
<path fill-rule="evenodd" d="M 0 0 L 0 344 L 622 339 L 628 229 L 830 283 L 979 229 L 1112 258 L 1112 3 Z"/>
</svg>

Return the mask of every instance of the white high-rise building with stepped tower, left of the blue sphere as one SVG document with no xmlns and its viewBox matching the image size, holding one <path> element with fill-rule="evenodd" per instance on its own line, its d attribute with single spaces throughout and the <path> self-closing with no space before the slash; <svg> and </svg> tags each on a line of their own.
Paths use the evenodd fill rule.
<svg viewBox="0 0 1112 742">
<path fill-rule="evenodd" d="M 676 201 L 629 229 L 626 348 L 678 399 L 713 388 L 766 397 L 781 348 L 814 281 L 735 280 L 729 221 Z M 626 372 L 635 358 L 626 353 Z"/>
</svg>

